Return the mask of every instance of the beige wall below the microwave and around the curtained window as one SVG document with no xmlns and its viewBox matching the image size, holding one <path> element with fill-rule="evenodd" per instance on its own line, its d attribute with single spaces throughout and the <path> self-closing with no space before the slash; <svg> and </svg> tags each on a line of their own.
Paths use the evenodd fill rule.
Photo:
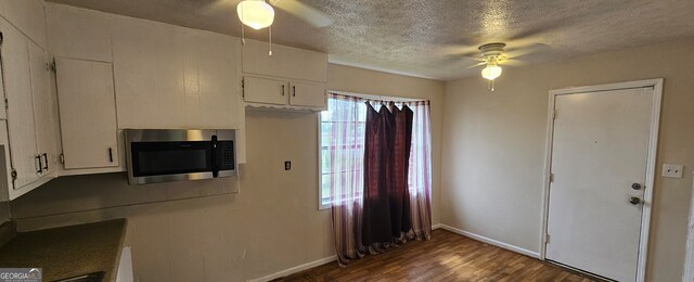
<svg viewBox="0 0 694 282">
<path fill-rule="evenodd" d="M 430 99 L 440 142 L 445 84 L 331 65 L 330 89 Z M 20 229 L 129 220 L 141 281 L 245 281 L 334 255 L 318 209 L 318 114 L 247 111 L 241 177 L 129 187 L 125 174 L 59 178 L 12 202 Z M 440 145 L 434 145 L 438 222 Z M 292 161 L 292 170 L 284 170 Z M 239 188 L 240 193 L 232 193 Z M 192 198 L 191 198 L 192 197 Z"/>
</svg>

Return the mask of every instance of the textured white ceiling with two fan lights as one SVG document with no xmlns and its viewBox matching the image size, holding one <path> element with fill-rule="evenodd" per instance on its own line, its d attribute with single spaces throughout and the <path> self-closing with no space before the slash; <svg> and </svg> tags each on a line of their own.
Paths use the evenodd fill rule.
<svg viewBox="0 0 694 282">
<path fill-rule="evenodd" d="M 240 36 L 240 0 L 50 0 Z M 297 0 L 283 0 L 297 1 Z M 537 64 L 694 36 L 693 0 L 301 0 L 335 20 L 324 28 L 275 9 L 272 40 L 334 63 L 436 79 L 478 74 L 467 55 L 502 41 Z M 267 40 L 267 29 L 246 28 Z M 511 60 L 509 63 L 513 63 Z"/>
</svg>

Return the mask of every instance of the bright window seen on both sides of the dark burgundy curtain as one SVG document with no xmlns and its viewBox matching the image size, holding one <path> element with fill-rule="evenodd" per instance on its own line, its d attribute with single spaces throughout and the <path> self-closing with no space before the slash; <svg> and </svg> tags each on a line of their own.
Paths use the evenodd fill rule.
<svg viewBox="0 0 694 282">
<path fill-rule="evenodd" d="M 365 102 L 372 105 L 383 103 L 383 101 L 331 94 L 327 99 L 329 111 L 320 114 L 319 205 L 321 208 L 361 198 L 364 184 L 362 170 L 367 126 Z M 408 175 L 409 193 L 421 202 L 421 206 L 425 206 L 429 201 L 432 187 L 429 102 L 396 102 L 398 107 L 403 105 L 408 105 L 414 112 Z"/>
</svg>

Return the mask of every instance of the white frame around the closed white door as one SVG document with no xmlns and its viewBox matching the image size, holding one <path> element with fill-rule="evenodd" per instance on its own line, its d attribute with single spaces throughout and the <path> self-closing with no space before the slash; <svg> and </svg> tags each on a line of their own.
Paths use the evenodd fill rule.
<svg viewBox="0 0 694 282">
<path fill-rule="evenodd" d="M 651 134 L 648 137 L 648 157 L 646 159 L 646 180 L 643 194 L 643 213 L 641 215 L 641 234 L 639 240 L 639 260 L 637 262 L 637 281 L 645 281 L 646 258 L 648 251 L 648 233 L 651 227 L 651 208 L 653 185 L 655 182 L 655 164 L 658 148 L 658 129 L 660 125 L 660 104 L 663 100 L 663 78 L 645 79 L 628 82 L 594 85 L 584 87 L 569 87 L 550 90 L 548 105 L 548 129 L 544 150 L 544 175 L 542 179 L 542 218 L 540 232 L 540 259 L 547 259 L 547 232 L 550 207 L 550 170 L 552 168 L 552 146 L 554 142 L 554 107 L 557 95 L 576 94 L 582 92 L 601 92 L 632 88 L 653 88 L 653 108 L 651 112 Z"/>
</svg>

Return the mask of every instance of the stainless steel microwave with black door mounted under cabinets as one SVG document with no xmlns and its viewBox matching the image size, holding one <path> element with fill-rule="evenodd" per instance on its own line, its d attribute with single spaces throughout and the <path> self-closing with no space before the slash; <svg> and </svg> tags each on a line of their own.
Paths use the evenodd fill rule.
<svg viewBox="0 0 694 282">
<path fill-rule="evenodd" d="M 234 130 L 126 129 L 128 183 L 236 175 Z"/>
</svg>

